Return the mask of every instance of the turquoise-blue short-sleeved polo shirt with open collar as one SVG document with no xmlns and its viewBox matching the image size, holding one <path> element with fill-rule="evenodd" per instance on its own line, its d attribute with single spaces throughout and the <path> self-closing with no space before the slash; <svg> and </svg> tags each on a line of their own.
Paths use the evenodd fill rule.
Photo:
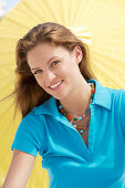
<svg viewBox="0 0 125 188">
<path fill-rule="evenodd" d="M 42 156 L 50 188 L 125 188 L 125 91 L 97 81 L 88 147 L 59 113 L 55 98 L 34 107 L 20 123 L 11 149 Z"/>
</svg>

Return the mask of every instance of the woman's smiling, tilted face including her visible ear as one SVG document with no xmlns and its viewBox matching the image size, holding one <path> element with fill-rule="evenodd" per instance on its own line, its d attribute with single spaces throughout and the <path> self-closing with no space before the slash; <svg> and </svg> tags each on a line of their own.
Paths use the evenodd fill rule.
<svg viewBox="0 0 125 188">
<path fill-rule="evenodd" d="M 38 84 L 50 95 L 63 100 L 76 88 L 82 51 L 69 52 L 51 43 L 38 44 L 28 52 L 28 64 Z"/>
</svg>

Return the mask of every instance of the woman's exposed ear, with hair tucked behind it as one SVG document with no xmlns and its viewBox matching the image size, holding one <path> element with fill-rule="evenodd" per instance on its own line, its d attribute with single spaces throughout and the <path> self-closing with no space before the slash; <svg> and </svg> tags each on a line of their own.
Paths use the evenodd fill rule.
<svg viewBox="0 0 125 188">
<path fill-rule="evenodd" d="M 79 45 L 75 45 L 73 51 L 76 59 L 76 63 L 79 64 L 83 59 L 83 52 Z"/>
</svg>

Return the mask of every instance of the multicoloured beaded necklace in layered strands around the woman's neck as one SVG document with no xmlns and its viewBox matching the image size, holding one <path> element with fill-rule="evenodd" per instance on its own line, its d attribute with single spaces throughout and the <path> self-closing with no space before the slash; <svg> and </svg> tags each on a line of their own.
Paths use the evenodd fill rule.
<svg viewBox="0 0 125 188">
<path fill-rule="evenodd" d="M 93 102 L 95 86 L 94 86 L 94 83 L 88 83 L 88 85 L 91 86 L 91 98 L 90 98 L 90 104 L 91 104 Z M 84 130 L 86 130 L 88 128 L 90 121 L 86 123 L 86 126 L 84 126 L 84 127 L 76 125 L 75 122 L 85 119 L 87 117 L 87 115 L 91 114 L 90 105 L 86 108 L 85 113 L 80 117 L 79 116 L 71 117 L 70 115 L 67 115 L 67 113 L 64 111 L 63 106 L 61 105 L 60 101 L 58 101 L 58 107 L 59 107 L 60 113 L 67 118 L 67 121 L 79 130 L 79 133 L 82 134 L 82 133 L 84 133 Z"/>
</svg>

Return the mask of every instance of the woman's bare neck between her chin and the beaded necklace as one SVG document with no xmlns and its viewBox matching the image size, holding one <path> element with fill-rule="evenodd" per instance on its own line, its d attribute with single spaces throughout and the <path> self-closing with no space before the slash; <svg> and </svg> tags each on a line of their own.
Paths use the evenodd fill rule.
<svg viewBox="0 0 125 188">
<path fill-rule="evenodd" d="M 86 111 L 91 98 L 91 86 L 83 81 L 83 84 L 77 86 L 72 95 L 60 101 L 64 111 L 70 116 L 81 116 Z"/>
</svg>

